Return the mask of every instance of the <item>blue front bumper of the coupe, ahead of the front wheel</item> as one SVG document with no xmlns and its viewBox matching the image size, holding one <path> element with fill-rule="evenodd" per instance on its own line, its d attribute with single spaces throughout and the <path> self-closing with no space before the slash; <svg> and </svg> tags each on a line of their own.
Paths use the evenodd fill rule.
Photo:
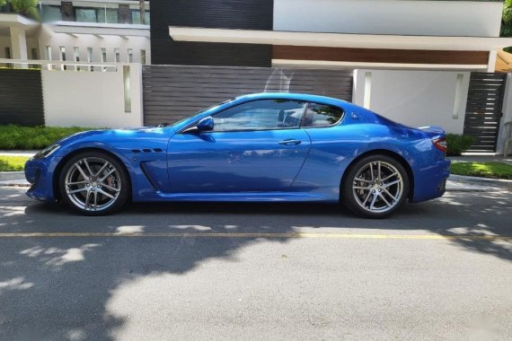
<svg viewBox="0 0 512 341">
<path fill-rule="evenodd" d="M 32 158 L 25 163 L 25 178 L 31 183 L 31 188 L 26 192 L 27 196 L 41 201 L 56 200 L 53 175 L 61 160 L 60 157 Z"/>
</svg>

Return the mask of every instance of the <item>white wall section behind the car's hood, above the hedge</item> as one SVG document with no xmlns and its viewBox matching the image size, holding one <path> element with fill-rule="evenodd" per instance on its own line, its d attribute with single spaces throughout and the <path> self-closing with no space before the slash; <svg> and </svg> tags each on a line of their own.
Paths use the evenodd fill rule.
<svg viewBox="0 0 512 341">
<path fill-rule="evenodd" d="M 142 67 L 129 64 L 131 112 L 125 112 L 122 66 L 117 72 L 42 71 L 49 127 L 141 127 Z"/>
</svg>

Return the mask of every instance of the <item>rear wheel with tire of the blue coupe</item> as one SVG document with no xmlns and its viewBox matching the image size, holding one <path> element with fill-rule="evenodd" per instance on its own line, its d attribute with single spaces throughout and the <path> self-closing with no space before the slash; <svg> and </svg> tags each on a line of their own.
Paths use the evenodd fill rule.
<svg viewBox="0 0 512 341">
<path fill-rule="evenodd" d="M 398 210 L 409 196 L 409 176 L 393 157 L 369 155 L 349 167 L 340 194 L 341 203 L 354 214 L 384 218 Z"/>
</svg>

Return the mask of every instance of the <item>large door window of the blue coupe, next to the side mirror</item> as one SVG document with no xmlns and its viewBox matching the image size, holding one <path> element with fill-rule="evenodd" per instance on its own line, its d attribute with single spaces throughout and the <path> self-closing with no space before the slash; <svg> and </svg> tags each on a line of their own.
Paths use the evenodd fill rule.
<svg viewBox="0 0 512 341">
<path fill-rule="evenodd" d="M 305 109 L 303 101 L 250 101 L 216 114 L 214 131 L 295 128 Z"/>
</svg>

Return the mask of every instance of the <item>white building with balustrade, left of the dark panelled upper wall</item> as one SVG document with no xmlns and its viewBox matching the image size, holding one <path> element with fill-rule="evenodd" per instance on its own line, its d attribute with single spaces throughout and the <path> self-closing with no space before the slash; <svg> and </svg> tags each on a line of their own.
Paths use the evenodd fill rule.
<svg viewBox="0 0 512 341">
<path fill-rule="evenodd" d="M 0 58 L 149 64 L 149 3 L 41 0 L 42 24 L 0 13 Z"/>
</svg>

